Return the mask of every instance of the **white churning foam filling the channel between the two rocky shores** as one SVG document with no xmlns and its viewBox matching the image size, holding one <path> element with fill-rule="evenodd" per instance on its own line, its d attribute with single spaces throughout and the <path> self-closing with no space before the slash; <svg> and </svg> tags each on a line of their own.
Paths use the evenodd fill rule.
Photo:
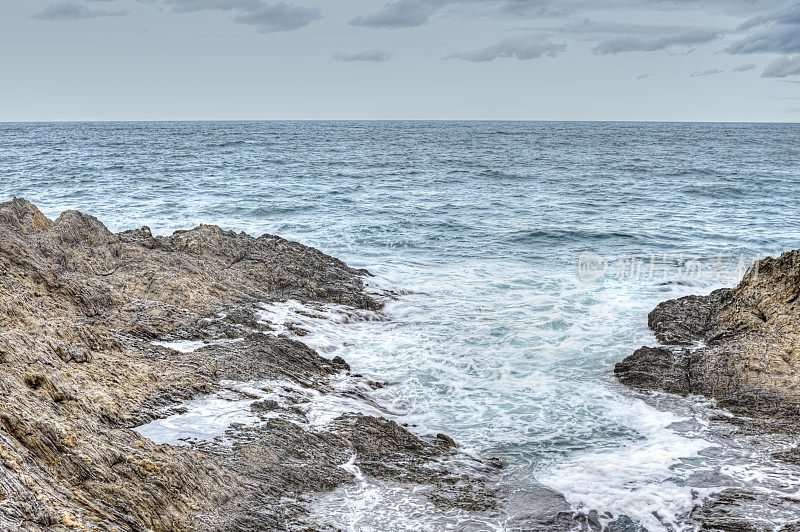
<svg viewBox="0 0 800 532">
<path fill-rule="evenodd" d="M 476 278 L 471 280 L 463 270 L 453 275 L 464 286 L 477 284 L 484 272 L 472 272 Z M 639 290 L 613 283 L 598 290 L 565 274 L 556 281 L 562 284 L 558 290 L 521 294 L 522 301 L 505 301 L 507 292 L 500 295 L 502 302 L 487 294 L 473 296 L 478 301 L 448 293 L 450 309 L 443 310 L 436 299 L 452 287 L 439 285 L 441 277 L 417 276 L 423 284 L 415 288 L 422 290 L 389 303 L 389 321 L 352 319 L 352 311 L 292 301 L 265 307 L 263 316 L 282 334 L 293 334 L 294 327 L 308 331 L 301 340 L 327 356 L 344 357 L 354 371 L 389 377 L 390 386 L 373 396 L 403 414 L 396 419 L 421 432 L 451 434 L 467 454 L 499 454 L 509 462 L 506 479 L 515 489 L 541 483 L 565 494 L 577 512 L 627 515 L 650 530 L 680 529 L 679 518 L 716 489 L 690 480 L 692 459 L 714 444 L 677 433 L 673 425 L 685 418 L 609 386 L 609 376 L 583 367 L 609 349 L 608 335 L 617 341 L 610 348 L 625 353 L 651 340 L 643 327 L 637 331 L 625 325 L 627 313 L 643 314 L 650 306 Z M 513 290 L 514 283 L 505 283 L 504 289 Z M 663 294 L 659 290 L 654 296 Z M 489 324 L 495 322 L 487 323 L 480 303 L 497 303 L 495 318 L 518 316 L 493 329 Z M 452 329 L 462 335 L 455 342 Z M 501 345 L 507 356 L 486 356 L 487 344 Z M 583 355 L 562 371 L 580 379 L 579 387 L 553 374 L 553 365 L 564 363 L 561 353 L 570 352 Z M 572 449 L 565 452 L 558 441 L 572 441 Z M 428 506 L 414 488 L 361 479 L 357 488 L 324 496 L 315 508 L 319 515 L 339 516 L 334 523 L 344 528 L 380 529 L 381 523 L 402 522 L 397 520 L 409 515 L 431 529 L 447 523 L 467 526 L 476 519 Z M 513 526 L 500 518 L 478 522 Z"/>
</svg>

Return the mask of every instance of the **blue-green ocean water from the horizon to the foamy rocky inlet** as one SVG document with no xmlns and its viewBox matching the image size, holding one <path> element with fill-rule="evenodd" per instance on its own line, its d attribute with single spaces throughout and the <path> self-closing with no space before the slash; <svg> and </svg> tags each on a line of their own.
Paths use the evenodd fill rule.
<svg viewBox="0 0 800 532">
<path fill-rule="evenodd" d="M 389 381 L 373 395 L 386 415 L 501 458 L 505 503 L 438 510 L 351 461 L 357 481 L 312 508 L 346 530 L 525 529 L 554 504 L 682 530 L 724 487 L 797 496 L 800 471 L 709 430 L 713 403 L 613 376 L 655 343 L 658 302 L 734 285 L 754 259 L 800 247 L 797 161 L 790 124 L 0 124 L 4 199 L 113 230 L 278 234 L 403 292 L 390 321 L 334 308 L 315 320 L 295 302 L 265 319 L 300 322 L 325 356 Z M 187 423 L 202 429 L 223 399 Z M 324 421 L 324 402 L 314 408 Z"/>
</svg>

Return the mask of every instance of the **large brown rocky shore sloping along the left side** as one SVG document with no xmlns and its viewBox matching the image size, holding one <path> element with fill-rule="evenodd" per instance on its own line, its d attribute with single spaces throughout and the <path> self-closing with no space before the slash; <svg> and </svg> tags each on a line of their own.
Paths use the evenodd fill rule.
<svg viewBox="0 0 800 532">
<path fill-rule="evenodd" d="M 419 485 L 439 507 L 492 510 L 498 464 L 454 472 L 445 435 L 357 412 L 307 423 L 309 394 L 369 404 L 382 383 L 271 334 L 260 305 L 380 313 L 368 275 L 270 235 L 115 234 L 76 211 L 50 220 L 23 199 L 0 204 L 0 529 L 326 529 L 307 502 L 353 467 Z M 158 345 L 181 340 L 201 346 Z M 350 388 L 334 387 L 341 378 Z M 229 384 L 240 381 L 286 385 L 256 400 Z M 222 392 L 251 400 L 260 422 L 181 446 L 132 430 Z"/>
</svg>

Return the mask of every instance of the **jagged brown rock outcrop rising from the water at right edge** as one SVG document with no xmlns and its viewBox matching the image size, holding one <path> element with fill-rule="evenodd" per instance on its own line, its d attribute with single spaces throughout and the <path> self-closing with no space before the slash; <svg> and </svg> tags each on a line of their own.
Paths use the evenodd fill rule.
<svg viewBox="0 0 800 532">
<path fill-rule="evenodd" d="M 800 250 L 754 264 L 739 286 L 661 303 L 648 318 L 663 344 L 615 368 L 641 389 L 699 394 L 748 416 L 800 414 Z"/>
</svg>

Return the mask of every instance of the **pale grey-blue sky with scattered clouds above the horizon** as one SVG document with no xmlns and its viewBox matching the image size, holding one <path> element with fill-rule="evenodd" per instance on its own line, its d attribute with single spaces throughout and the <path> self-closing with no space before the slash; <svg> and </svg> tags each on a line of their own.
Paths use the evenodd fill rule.
<svg viewBox="0 0 800 532">
<path fill-rule="evenodd" d="M 800 1 L 2 0 L 0 121 L 800 120 Z"/>
</svg>

